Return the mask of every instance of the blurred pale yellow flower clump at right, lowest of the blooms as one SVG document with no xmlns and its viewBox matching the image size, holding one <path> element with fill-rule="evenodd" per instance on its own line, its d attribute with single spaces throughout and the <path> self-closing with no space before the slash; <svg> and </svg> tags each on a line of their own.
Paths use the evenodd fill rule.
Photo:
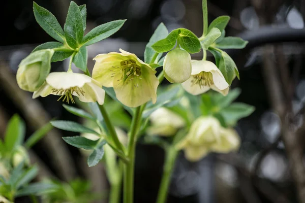
<svg viewBox="0 0 305 203">
<path fill-rule="evenodd" d="M 198 161 L 209 152 L 228 153 L 237 150 L 239 143 L 235 130 L 223 128 L 214 117 L 200 117 L 176 147 L 184 149 L 188 160 Z"/>
</svg>

